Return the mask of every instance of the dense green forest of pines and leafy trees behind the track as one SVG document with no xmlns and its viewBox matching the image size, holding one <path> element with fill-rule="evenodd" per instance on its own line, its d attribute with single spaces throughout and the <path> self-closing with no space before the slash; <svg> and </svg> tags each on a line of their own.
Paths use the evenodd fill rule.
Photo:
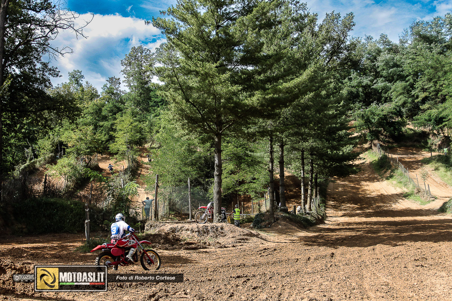
<svg viewBox="0 0 452 301">
<path fill-rule="evenodd" d="M 96 155 L 133 167 L 149 145 L 152 175 L 170 186 L 193 179 L 217 214 L 228 194 L 273 191 L 275 167 L 281 207 L 287 169 L 311 211 L 321 185 L 357 172 L 358 143 L 397 143 L 410 127 L 426 133 L 426 148 L 450 145 L 450 13 L 393 42 L 353 37 L 353 13 L 319 16 L 297 1 L 183 0 L 146 21 L 165 42 L 133 47 L 98 91 L 78 69 L 50 82 L 59 71 L 48 59 L 72 51 L 54 37 L 83 36 L 76 14 L 49 0 L 1 2 L 1 204 L 26 197 L 17 183 L 56 159 L 50 172 L 66 190 L 87 179 L 112 186 Z M 133 194 L 125 180 L 113 198 Z"/>
</svg>

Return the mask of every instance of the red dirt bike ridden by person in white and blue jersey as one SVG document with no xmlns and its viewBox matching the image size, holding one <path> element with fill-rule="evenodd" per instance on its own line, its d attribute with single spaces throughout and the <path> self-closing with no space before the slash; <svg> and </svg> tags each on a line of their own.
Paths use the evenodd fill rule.
<svg viewBox="0 0 452 301">
<path fill-rule="evenodd" d="M 133 255 L 133 261 L 138 262 L 138 254 L 140 255 L 140 262 L 143 269 L 158 270 L 160 269 L 160 256 L 152 249 L 145 249 L 143 245 L 151 245 L 150 241 L 138 241 L 137 236 L 134 233 L 127 234 L 123 239 L 129 239 L 130 245 L 125 248 L 120 247 L 117 244 L 104 243 L 98 245 L 91 252 L 102 250 L 95 261 L 95 265 L 106 265 L 107 269 L 117 270 L 119 266 L 129 265 L 131 263 L 126 260 L 126 250 L 130 248 L 137 248 L 137 251 Z"/>
</svg>

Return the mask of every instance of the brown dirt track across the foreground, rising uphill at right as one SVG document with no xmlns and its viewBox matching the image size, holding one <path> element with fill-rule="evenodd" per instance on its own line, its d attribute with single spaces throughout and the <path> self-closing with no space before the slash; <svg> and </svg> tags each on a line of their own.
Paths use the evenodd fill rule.
<svg viewBox="0 0 452 301">
<path fill-rule="evenodd" d="M 234 232 L 242 243 L 226 248 L 158 250 L 163 260 L 159 272 L 184 273 L 183 283 L 111 283 L 106 293 L 36 293 L 31 285 L 9 280 L 9 265 L 27 271 L 33 264 L 91 263 L 95 255 L 72 252 L 81 244 L 80 235 L 10 238 L 0 247 L 0 286 L 13 293 L 3 298 L 452 300 L 450 216 L 438 215 L 433 205 L 405 200 L 400 189 L 367 164 L 359 174 L 331 184 L 329 191 L 329 218 L 320 226 L 299 230 L 280 221 L 267 233 Z M 139 265 L 120 270 L 126 271 L 142 270 Z"/>
</svg>

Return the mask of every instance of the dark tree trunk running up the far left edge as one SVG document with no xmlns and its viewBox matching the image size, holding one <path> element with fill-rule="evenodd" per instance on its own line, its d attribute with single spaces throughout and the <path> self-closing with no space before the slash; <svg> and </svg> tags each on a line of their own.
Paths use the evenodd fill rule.
<svg viewBox="0 0 452 301">
<path fill-rule="evenodd" d="M 5 83 L 5 24 L 8 15 L 9 0 L 1 0 L 0 5 L 0 89 Z M 3 190 L 4 164 L 3 164 L 3 93 L 0 94 L 0 192 Z M 2 200 L 0 199 L 0 202 Z"/>
</svg>

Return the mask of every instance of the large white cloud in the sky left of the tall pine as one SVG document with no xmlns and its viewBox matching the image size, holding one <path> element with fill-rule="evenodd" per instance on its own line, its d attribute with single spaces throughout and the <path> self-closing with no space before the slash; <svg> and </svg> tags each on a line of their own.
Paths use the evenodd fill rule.
<svg viewBox="0 0 452 301">
<path fill-rule="evenodd" d="M 90 14 L 82 14 L 77 22 L 81 25 L 83 20 L 89 19 Z M 133 46 L 143 45 L 154 50 L 162 41 L 160 31 L 151 24 L 118 14 L 95 14 L 83 33 L 88 38 L 77 39 L 73 32 L 61 32 L 52 42 L 54 46 L 69 46 L 74 51 L 52 61 L 62 75 L 52 80 L 54 85 L 67 82 L 67 73 L 79 69 L 85 80 L 100 92 L 108 77 L 121 76 L 121 60 Z"/>
</svg>

